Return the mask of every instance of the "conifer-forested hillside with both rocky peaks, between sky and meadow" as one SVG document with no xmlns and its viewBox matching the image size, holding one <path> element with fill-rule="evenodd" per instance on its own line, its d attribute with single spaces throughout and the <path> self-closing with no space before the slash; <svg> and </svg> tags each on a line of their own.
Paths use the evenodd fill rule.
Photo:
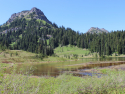
<svg viewBox="0 0 125 94">
<path fill-rule="evenodd" d="M 104 28 L 91 27 L 83 34 L 71 28 L 59 27 L 34 7 L 12 14 L 0 26 L 0 49 L 25 50 L 41 54 L 43 58 L 53 55 L 56 47 L 70 44 L 97 52 L 99 56 L 111 55 L 116 51 L 118 54 L 125 54 L 124 36 L 123 30 L 108 33 Z"/>
</svg>

